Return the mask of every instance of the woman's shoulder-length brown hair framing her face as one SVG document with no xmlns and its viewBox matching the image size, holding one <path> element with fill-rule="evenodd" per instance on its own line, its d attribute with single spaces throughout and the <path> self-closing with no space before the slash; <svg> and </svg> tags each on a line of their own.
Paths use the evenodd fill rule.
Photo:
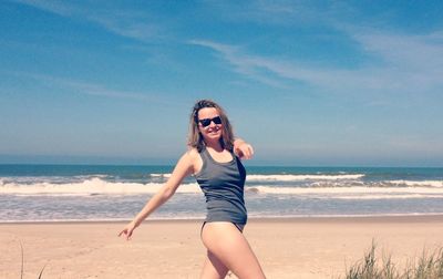
<svg viewBox="0 0 443 279">
<path fill-rule="evenodd" d="M 199 100 L 195 103 L 193 107 L 193 112 L 189 118 L 189 136 L 187 145 L 189 147 L 197 148 L 198 152 L 202 152 L 205 146 L 205 142 L 203 140 L 203 135 L 198 130 L 198 111 L 205 107 L 214 107 L 217 110 L 223 124 L 223 134 L 220 137 L 220 145 L 223 148 L 233 151 L 234 148 L 234 132 L 233 127 L 229 123 L 228 117 L 226 116 L 225 111 L 219 106 L 216 102 L 210 100 Z"/>
</svg>

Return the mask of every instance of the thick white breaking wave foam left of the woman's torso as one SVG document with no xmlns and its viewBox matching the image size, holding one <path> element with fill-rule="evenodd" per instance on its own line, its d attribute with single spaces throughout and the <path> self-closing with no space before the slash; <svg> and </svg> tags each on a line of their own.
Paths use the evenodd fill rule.
<svg viewBox="0 0 443 279">
<path fill-rule="evenodd" d="M 131 194 L 154 194 L 164 184 L 159 183 L 111 183 L 100 178 L 91 178 L 81 183 L 51 184 L 35 183 L 22 185 L 17 183 L 6 183 L 0 185 L 0 194 L 16 195 L 131 195 Z M 200 193 L 198 185 L 184 184 L 178 187 L 177 193 Z"/>
</svg>

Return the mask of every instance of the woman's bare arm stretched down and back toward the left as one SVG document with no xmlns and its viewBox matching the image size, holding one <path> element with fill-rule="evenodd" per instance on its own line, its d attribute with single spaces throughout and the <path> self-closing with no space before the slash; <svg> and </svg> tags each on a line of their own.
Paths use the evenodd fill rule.
<svg viewBox="0 0 443 279">
<path fill-rule="evenodd" d="M 146 203 L 143 209 L 135 216 L 135 218 L 126 225 L 126 227 L 119 234 L 126 236 L 128 240 L 133 230 L 142 224 L 155 209 L 166 203 L 176 192 L 182 180 L 193 173 L 193 158 L 189 152 L 185 153 L 175 166 L 169 179 L 166 184 Z"/>
</svg>

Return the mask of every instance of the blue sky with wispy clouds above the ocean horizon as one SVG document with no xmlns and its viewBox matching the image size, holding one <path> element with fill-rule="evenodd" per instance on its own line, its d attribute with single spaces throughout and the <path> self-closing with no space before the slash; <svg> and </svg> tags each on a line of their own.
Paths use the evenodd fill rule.
<svg viewBox="0 0 443 279">
<path fill-rule="evenodd" d="M 251 165 L 443 166 L 442 1 L 0 3 L 0 163 L 173 164 L 198 99 Z"/>
</svg>

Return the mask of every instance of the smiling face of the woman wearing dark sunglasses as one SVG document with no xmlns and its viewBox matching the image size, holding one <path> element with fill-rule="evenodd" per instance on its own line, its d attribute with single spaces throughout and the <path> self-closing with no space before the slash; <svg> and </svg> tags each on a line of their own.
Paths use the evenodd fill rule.
<svg viewBox="0 0 443 279">
<path fill-rule="evenodd" d="M 198 111 L 198 130 L 205 142 L 220 140 L 223 124 L 220 123 L 219 116 L 220 114 L 215 107 L 204 107 Z"/>
</svg>

